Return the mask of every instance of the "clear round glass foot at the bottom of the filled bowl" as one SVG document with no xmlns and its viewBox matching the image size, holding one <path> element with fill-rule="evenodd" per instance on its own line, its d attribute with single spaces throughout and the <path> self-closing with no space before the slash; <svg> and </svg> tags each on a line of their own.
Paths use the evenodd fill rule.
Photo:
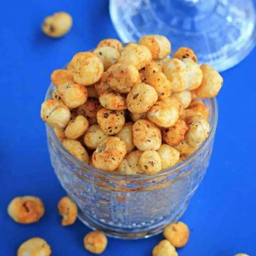
<svg viewBox="0 0 256 256">
<path fill-rule="evenodd" d="M 118 239 L 142 239 L 142 238 L 149 238 L 154 235 L 158 235 L 162 232 L 163 228 L 171 223 L 177 222 L 178 219 L 181 218 L 183 213 L 186 211 L 188 206 L 188 202 L 182 207 L 181 211 L 175 216 L 167 219 L 162 220 L 160 223 L 152 225 L 147 229 L 134 229 L 134 230 L 124 230 L 122 228 L 112 228 L 108 225 L 98 222 L 95 219 L 90 218 L 90 216 L 85 215 L 82 213 L 80 209 L 78 209 L 78 219 L 84 223 L 87 227 L 92 230 L 101 231 L 106 234 L 106 236 Z"/>
</svg>

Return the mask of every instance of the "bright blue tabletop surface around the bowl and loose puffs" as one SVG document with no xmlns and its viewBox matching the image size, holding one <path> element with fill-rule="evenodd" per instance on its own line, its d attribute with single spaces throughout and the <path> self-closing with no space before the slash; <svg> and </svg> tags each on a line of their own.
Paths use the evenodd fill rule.
<svg viewBox="0 0 256 256">
<path fill-rule="evenodd" d="M 4 4 L 4 5 L 3 5 Z M 43 18 L 55 11 L 74 18 L 70 33 L 51 39 L 41 32 Z M 0 254 L 16 255 L 34 236 L 47 240 L 54 256 L 91 255 L 83 247 L 89 229 L 76 221 L 60 226 L 57 202 L 65 195 L 54 175 L 40 105 L 54 69 L 103 38 L 118 38 L 107 0 L 4 1 L 0 16 Z M 256 255 L 255 58 L 225 71 L 218 95 L 219 123 L 208 172 L 182 220 L 191 228 L 180 256 Z M 6 213 L 11 199 L 42 198 L 46 213 L 36 224 L 20 225 Z M 109 239 L 103 256 L 150 256 L 162 235 L 146 240 Z M 118 252 L 121 250 L 122 252 Z"/>
</svg>

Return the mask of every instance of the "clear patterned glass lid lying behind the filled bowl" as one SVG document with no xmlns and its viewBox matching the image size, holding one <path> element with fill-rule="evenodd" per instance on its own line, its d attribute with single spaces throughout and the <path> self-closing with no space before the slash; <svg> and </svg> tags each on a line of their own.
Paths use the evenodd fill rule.
<svg viewBox="0 0 256 256">
<path fill-rule="evenodd" d="M 161 34 L 172 52 L 189 47 L 218 71 L 241 62 L 256 42 L 252 0 L 110 0 L 110 15 L 123 42 Z"/>
</svg>

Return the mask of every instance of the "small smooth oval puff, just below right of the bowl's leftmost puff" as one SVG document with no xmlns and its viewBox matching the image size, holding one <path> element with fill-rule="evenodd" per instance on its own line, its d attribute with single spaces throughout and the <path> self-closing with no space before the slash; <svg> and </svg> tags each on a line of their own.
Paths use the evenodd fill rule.
<svg viewBox="0 0 256 256">
<path fill-rule="evenodd" d="M 89 127 L 87 119 L 80 115 L 72 119 L 65 129 L 65 135 L 68 139 L 77 139 L 82 136 Z"/>
</svg>

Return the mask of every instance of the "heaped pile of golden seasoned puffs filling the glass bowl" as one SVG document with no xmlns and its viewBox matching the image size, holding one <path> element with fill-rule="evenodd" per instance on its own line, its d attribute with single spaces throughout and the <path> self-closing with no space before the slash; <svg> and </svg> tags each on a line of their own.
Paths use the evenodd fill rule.
<svg viewBox="0 0 256 256">
<path fill-rule="evenodd" d="M 215 97 L 223 78 L 199 66 L 189 48 L 170 53 L 170 41 L 159 35 L 124 48 L 117 39 L 102 40 L 53 71 L 56 90 L 42 103 L 41 118 L 71 154 L 96 169 L 153 175 L 174 166 L 208 137 L 201 99 Z"/>
</svg>

